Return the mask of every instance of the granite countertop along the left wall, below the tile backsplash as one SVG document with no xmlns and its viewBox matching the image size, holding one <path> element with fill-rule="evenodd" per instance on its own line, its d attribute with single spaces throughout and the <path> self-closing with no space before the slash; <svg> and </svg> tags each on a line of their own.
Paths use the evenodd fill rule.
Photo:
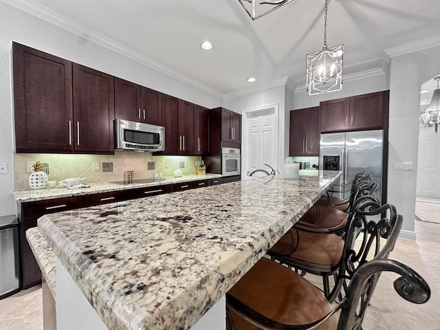
<svg viewBox="0 0 440 330">
<path fill-rule="evenodd" d="M 144 188 L 153 186 L 162 186 L 166 184 L 175 184 L 177 182 L 188 182 L 205 179 L 215 179 L 221 177 L 220 174 L 205 175 L 183 175 L 181 177 L 164 177 L 163 181 L 155 181 L 148 184 L 129 184 L 121 185 L 111 182 L 87 183 L 87 188 L 44 188 L 44 189 L 23 189 L 14 190 L 15 201 L 25 203 L 28 201 L 43 201 L 45 199 L 55 199 L 61 197 L 72 197 L 81 195 L 92 195 L 100 192 L 110 192 L 116 190 L 129 190 L 134 188 Z"/>
</svg>

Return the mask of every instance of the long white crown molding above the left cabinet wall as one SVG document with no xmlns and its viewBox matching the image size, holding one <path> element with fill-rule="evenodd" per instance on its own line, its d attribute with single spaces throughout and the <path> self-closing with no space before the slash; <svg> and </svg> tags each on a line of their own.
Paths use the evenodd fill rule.
<svg viewBox="0 0 440 330">
<path fill-rule="evenodd" d="M 153 60 L 152 58 L 148 58 L 147 56 L 144 56 L 138 52 L 129 50 L 126 46 L 118 43 L 117 41 L 114 41 L 113 39 L 107 38 L 107 36 L 104 36 L 94 30 L 86 28 L 84 25 L 80 25 L 77 22 L 67 19 L 67 17 L 63 17 L 60 14 L 56 14 L 50 8 L 47 8 L 43 5 L 39 5 L 30 0 L 28 1 L 0 0 L 0 1 L 14 8 L 17 8 L 23 12 L 26 12 L 34 17 L 42 19 L 43 21 L 51 23 L 52 25 L 55 25 L 58 28 L 66 30 L 67 32 L 76 34 L 77 36 L 80 36 L 83 39 L 87 39 L 92 43 L 96 43 L 97 45 L 107 48 L 107 50 L 111 50 L 126 58 L 130 58 L 131 60 L 137 63 L 145 65 L 146 67 L 150 67 L 151 69 L 154 69 L 157 72 L 165 74 L 170 78 L 179 80 L 181 83 L 185 83 L 190 87 L 199 89 L 200 91 L 203 91 L 219 99 L 223 97 L 223 93 L 221 93 L 220 91 L 217 91 L 216 89 L 212 89 L 206 85 L 203 85 L 202 83 L 199 83 L 197 80 L 189 78 L 184 74 L 181 74 L 173 69 L 170 69 L 170 67 L 166 67 L 165 65 L 162 65 L 161 63 Z"/>
</svg>

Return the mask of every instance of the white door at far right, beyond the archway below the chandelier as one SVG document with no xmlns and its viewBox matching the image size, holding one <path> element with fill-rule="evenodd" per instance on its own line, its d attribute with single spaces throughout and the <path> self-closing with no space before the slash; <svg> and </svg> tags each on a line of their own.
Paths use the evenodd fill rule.
<svg viewBox="0 0 440 330">
<path fill-rule="evenodd" d="M 440 129 L 434 127 L 419 128 L 416 195 L 440 198 Z"/>
</svg>

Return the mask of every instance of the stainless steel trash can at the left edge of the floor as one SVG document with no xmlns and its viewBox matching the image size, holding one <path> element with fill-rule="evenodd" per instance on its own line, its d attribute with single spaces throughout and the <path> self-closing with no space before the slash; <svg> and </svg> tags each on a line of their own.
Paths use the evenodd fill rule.
<svg viewBox="0 0 440 330">
<path fill-rule="evenodd" d="M 0 299 L 20 290 L 19 221 L 6 215 L 0 217 Z"/>
</svg>

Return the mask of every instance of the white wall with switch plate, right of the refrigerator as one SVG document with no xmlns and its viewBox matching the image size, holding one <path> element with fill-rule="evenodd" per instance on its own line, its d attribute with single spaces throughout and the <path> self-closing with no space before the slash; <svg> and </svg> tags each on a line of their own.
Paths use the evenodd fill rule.
<svg viewBox="0 0 440 330">
<path fill-rule="evenodd" d="M 420 87 L 440 72 L 440 47 L 397 56 L 391 61 L 388 201 L 403 215 L 402 234 L 414 237 Z M 414 170 L 393 170 L 393 162 L 412 162 Z"/>
</svg>

